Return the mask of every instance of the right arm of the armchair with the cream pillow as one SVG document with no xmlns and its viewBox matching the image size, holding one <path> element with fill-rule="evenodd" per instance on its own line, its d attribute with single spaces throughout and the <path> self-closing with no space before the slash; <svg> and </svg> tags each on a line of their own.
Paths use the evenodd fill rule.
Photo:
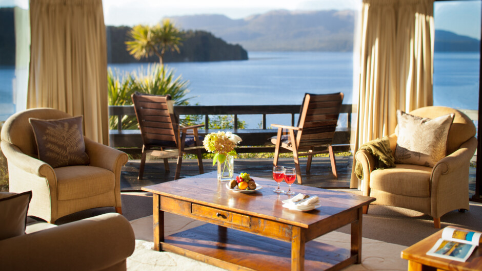
<svg viewBox="0 0 482 271">
<path fill-rule="evenodd" d="M 469 209 L 469 166 L 476 148 L 477 139 L 472 137 L 433 167 L 430 177 L 433 217 L 455 209 Z"/>
</svg>

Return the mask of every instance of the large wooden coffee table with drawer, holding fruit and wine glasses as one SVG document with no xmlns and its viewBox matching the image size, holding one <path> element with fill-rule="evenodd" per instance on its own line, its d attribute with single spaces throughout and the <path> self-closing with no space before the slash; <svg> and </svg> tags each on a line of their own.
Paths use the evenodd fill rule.
<svg viewBox="0 0 482 271">
<path fill-rule="evenodd" d="M 274 180 L 252 178 L 263 188 L 250 194 L 228 190 L 216 172 L 144 187 L 153 193 L 154 249 L 239 270 L 340 269 L 361 262 L 362 207 L 375 198 L 292 185 L 321 204 L 292 211 L 282 207 L 289 197 L 273 192 Z M 164 212 L 208 223 L 164 236 Z M 311 241 L 349 223 L 351 250 Z"/>
</svg>

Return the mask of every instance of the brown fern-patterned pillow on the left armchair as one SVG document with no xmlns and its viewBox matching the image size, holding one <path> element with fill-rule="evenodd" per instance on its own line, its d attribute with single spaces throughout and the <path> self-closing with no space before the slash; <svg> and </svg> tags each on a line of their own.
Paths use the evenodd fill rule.
<svg viewBox="0 0 482 271">
<path fill-rule="evenodd" d="M 53 168 L 89 164 L 82 133 L 82 116 L 58 120 L 29 118 L 38 159 Z"/>
</svg>

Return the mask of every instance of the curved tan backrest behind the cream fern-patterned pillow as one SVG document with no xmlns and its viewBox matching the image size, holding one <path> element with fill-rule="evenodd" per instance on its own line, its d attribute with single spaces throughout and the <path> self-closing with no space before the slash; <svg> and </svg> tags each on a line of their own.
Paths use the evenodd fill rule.
<svg viewBox="0 0 482 271">
<path fill-rule="evenodd" d="M 447 153 L 452 153 L 458 150 L 464 142 L 475 136 L 475 125 L 467 115 L 457 109 L 445 106 L 420 107 L 410 112 L 410 115 L 429 119 L 448 114 L 455 114 L 447 136 Z"/>
</svg>

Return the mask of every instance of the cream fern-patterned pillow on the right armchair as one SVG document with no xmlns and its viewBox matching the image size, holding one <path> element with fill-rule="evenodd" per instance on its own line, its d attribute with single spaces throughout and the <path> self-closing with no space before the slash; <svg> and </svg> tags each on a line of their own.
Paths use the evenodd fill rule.
<svg viewBox="0 0 482 271">
<path fill-rule="evenodd" d="M 395 162 L 435 166 L 447 155 L 447 135 L 454 116 L 450 114 L 429 119 L 397 110 L 398 139 Z"/>
</svg>

